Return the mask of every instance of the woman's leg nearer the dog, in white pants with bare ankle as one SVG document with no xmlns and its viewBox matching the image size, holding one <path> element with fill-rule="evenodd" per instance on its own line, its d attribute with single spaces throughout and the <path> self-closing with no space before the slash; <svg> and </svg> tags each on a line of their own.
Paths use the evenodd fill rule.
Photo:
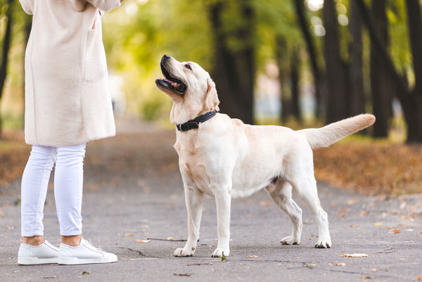
<svg viewBox="0 0 422 282">
<path fill-rule="evenodd" d="M 54 196 L 62 243 L 79 245 L 86 143 L 57 148 Z"/>
</svg>

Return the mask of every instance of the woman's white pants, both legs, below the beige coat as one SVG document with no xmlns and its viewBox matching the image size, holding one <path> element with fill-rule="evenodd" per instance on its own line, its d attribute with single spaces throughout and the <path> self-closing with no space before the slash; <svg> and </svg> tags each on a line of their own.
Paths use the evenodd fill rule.
<svg viewBox="0 0 422 282">
<path fill-rule="evenodd" d="M 51 169 L 54 172 L 54 198 L 60 235 L 82 234 L 82 186 L 87 143 L 75 146 L 32 146 L 22 177 L 22 236 L 44 235 L 42 219 Z"/>
</svg>

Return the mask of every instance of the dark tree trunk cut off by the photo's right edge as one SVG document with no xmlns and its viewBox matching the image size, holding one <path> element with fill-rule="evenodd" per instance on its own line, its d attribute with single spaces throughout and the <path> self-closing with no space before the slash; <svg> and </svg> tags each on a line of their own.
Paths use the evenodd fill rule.
<svg viewBox="0 0 422 282">
<path fill-rule="evenodd" d="M 418 0 L 407 0 L 407 19 L 412 63 L 415 74 L 415 88 L 411 103 L 405 108 L 411 115 L 407 124 L 407 141 L 422 142 L 422 20 Z"/>
</svg>

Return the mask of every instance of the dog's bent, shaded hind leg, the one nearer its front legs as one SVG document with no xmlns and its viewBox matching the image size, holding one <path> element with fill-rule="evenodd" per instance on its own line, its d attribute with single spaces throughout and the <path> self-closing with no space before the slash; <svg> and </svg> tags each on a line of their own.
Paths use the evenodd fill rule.
<svg viewBox="0 0 422 282">
<path fill-rule="evenodd" d="M 278 179 L 265 188 L 274 203 L 288 214 L 292 222 L 292 235 L 281 239 L 283 245 L 298 245 L 302 236 L 302 209 L 292 198 L 292 186 L 288 181 Z"/>
</svg>

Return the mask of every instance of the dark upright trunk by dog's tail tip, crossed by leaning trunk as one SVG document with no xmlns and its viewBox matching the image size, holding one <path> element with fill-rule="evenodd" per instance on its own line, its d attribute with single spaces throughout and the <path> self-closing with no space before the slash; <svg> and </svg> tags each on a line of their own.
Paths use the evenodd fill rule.
<svg viewBox="0 0 422 282">
<path fill-rule="evenodd" d="M 378 34 L 381 34 L 381 44 L 387 52 L 388 21 L 385 14 L 385 0 L 373 0 L 372 11 Z M 374 137 L 388 137 L 388 120 L 392 117 L 392 93 L 388 79 L 385 61 L 371 44 L 371 96 L 373 114 L 376 124 L 373 124 Z"/>
</svg>

